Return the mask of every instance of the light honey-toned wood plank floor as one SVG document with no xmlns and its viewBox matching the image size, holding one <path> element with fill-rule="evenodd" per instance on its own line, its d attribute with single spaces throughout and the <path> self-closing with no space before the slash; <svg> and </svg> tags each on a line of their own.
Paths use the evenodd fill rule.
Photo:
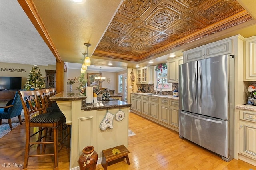
<svg viewBox="0 0 256 170">
<path fill-rule="evenodd" d="M 136 134 L 129 137 L 130 166 L 124 160 L 108 166 L 108 170 L 256 170 L 255 166 L 242 160 L 225 162 L 220 156 L 180 139 L 178 132 L 134 113 L 129 115 L 129 129 Z M 22 169 L 13 164 L 23 164 L 24 141 L 25 123 L 0 139 L 1 170 Z M 34 152 L 35 147 L 32 148 Z M 53 150 L 46 147 L 46 152 L 47 149 Z M 59 170 L 69 169 L 69 156 L 64 146 L 59 152 Z M 4 163 L 7 166 L 10 163 L 11 167 L 3 167 Z M 52 170 L 53 166 L 53 156 L 31 157 L 28 160 L 28 170 Z M 103 167 L 98 165 L 96 169 L 103 170 Z"/>
</svg>

